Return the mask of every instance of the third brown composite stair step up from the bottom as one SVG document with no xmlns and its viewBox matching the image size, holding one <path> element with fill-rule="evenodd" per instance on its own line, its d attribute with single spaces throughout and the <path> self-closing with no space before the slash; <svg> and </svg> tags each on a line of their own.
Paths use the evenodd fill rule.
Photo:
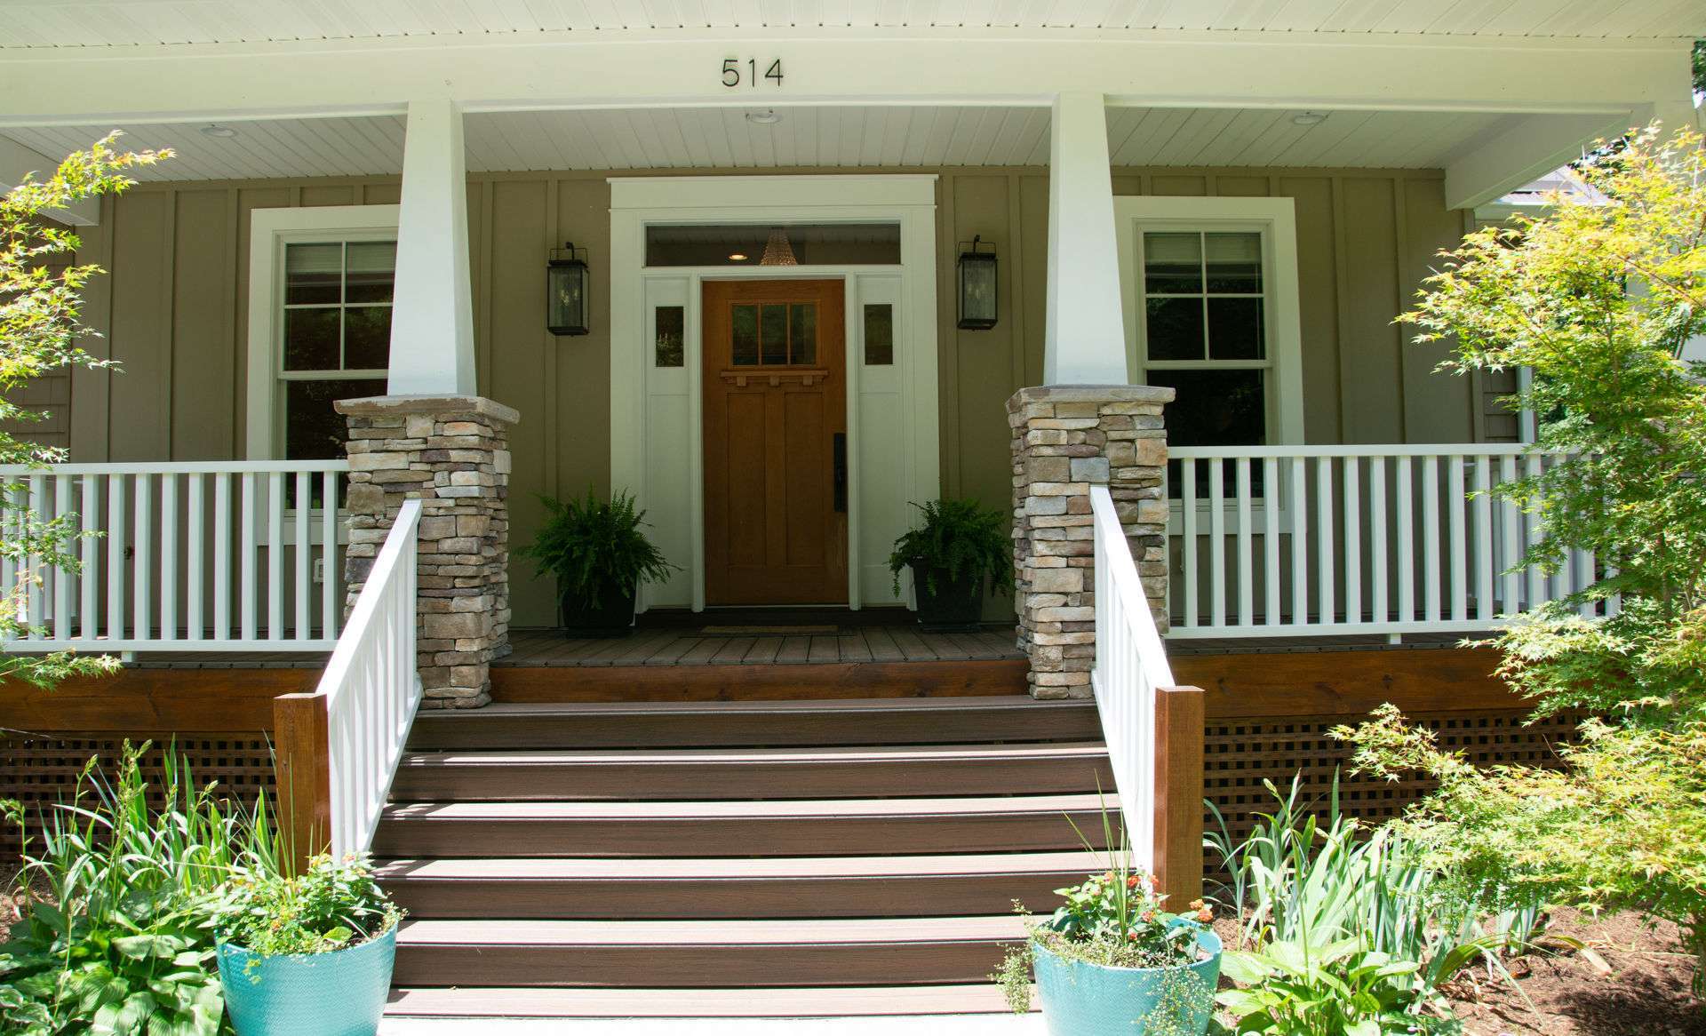
<svg viewBox="0 0 1706 1036">
<path fill-rule="evenodd" d="M 1090 852 L 763 858 L 418 858 L 377 876 L 415 918 L 998 913 L 1104 865 Z"/>
</svg>

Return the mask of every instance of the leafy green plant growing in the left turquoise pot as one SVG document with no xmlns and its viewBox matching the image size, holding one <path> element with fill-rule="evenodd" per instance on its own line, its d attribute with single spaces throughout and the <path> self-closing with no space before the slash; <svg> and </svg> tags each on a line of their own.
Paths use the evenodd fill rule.
<svg viewBox="0 0 1706 1036">
<path fill-rule="evenodd" d="M 244 872 L 212 906 L 220 937 L 258 956 L 322 954 L 360 946 L 403 920 L 365 858 L 317 857 L 307 872 Z"/>
</svg>

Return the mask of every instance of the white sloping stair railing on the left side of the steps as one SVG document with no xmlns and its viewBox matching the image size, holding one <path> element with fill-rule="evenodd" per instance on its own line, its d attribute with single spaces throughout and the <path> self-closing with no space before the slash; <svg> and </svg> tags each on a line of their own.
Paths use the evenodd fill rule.
<svg viewBox="0 0 1706 1036">
<path fill-rule="evenodd" d="M 374 841 L 403 742 L 421 703 L 415 667 L 420 517 L 421 502 L 406 500 L 314 690 L 326 710 L 334 857 L 367 852 Z"/>
</svg>

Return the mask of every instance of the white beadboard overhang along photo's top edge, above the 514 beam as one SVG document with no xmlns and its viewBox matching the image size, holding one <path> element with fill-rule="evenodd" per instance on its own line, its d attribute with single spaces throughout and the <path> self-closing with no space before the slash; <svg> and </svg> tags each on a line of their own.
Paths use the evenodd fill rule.
<svg viewBox="0 0 1706 1036">
<path fill-rule="evenodd" d="M 0 0 L 0 48 L 672 29 L 1696 38 L 1701 0 Z"/>
</svg>

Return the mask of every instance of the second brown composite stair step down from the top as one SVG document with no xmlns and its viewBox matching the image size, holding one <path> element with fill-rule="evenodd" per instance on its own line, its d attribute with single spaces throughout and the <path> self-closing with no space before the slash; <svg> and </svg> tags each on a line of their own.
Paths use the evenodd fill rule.
<svg viewBox="0 0 1706 1036">
<path fill-rule="evenodd" d="M 399 802 L 469 799 L 815 799 L 1083 792 L 1112 787 L 1094 741 L 954 746 L 404 753 Z"/>
</svg>

